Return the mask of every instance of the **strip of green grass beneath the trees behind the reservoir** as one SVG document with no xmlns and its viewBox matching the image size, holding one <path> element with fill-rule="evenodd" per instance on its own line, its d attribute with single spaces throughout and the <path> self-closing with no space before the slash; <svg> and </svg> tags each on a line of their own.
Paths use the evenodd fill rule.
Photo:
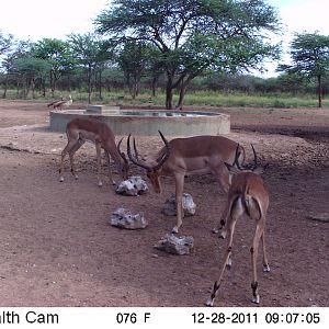
<svg viewBox="0 0 329 329">
<path fill-rule="evenodd" d="M 0 90 L 1 94 L 1 90 Z M 55 98 L 72 95 L 75 102 L 88 102 L 88 93 L 83 91 L 56 91 Z M 7 99 L 20 99 L 18 92 L 9 90 Z M 35 92 L 34 98 L 29 94 L 29 100 L 52 100 L 50 93 L 46 99 Z M 158 91 L 156 97 L 151 97 L 149 91 L 141 92 L 136 99 L 132 99 L 127 90 L 115 90 L 111 92 L 102 92 L 100 98 L 98 92 L 92 93 L 93 103 L 103 104 L 132 104 L 144 106 L 161 106 L 164 107 L 166 94 Z M 173 95 L 173 105 L 178 102 L 178 94 Z M 276 94 L 249 94 L 242 92 L 215 92 L 215 91 L 196 91 L 189 92 L 185 95 L 184 106 L 214 106 L 214 107 L 265 107 L 265 109 L 290 109 L 290 107 L 318 107 L 316 94 L 292 95 L 286 93 Z M 329 107 L 329 100 L 322 101 L 324 107 Z"/>
</svg>

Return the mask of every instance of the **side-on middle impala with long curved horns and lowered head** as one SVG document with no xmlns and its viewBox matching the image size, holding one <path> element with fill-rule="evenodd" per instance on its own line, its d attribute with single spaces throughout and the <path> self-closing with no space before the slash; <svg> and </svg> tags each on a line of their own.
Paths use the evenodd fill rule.
<svg viewBox="0 0 329 329">
<path fill-rule="evenodd" d="M 164 147 L 158 152 L 155 163 L 141 162 L 134 139 L 134 151 L 131 150 L 131 135 L 127 140 L 127 154 L 131 161 L 147 171 L 155 192 L 161 193 L 161 175 L 173 175 L 175 180 L 177 225 L 172 232 L 178 232 L 182 225 L 182 196 L 184 177 L 186 174 L 212 172 L 218 180 L 222 189 L 227 192 L 229 188 L 229 172 L 225 161 L 234 161 L 237 157 L 245 159 L 245 150 L 237 143 L 223 136 L 194 136 L 189 138 L 174 138 L 168 141 L 159 132 Z"/>
</svg>

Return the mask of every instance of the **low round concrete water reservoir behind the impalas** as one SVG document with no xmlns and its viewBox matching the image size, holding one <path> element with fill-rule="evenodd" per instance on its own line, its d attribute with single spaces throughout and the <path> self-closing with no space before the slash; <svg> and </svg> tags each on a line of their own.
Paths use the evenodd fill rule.
<svg viewBox="0 0 329 329">
<path fill-rule="evenodd" d="M 213 112 L 120 110 L 92 105 L 87 110 L 50 111 L 50 129 L 65 132 L 75 117 L 93 117 L 106 123 L 115 135 L 164 136 L 224 135 L 230 129 L 229 115 Z"/>
</svg>

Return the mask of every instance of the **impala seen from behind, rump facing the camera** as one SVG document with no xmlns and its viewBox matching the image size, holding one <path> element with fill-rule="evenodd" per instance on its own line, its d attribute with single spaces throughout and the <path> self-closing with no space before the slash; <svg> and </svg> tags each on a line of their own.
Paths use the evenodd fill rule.
<svg viewBox="0 0 329 329">
<path fill-rule="evenodd" d="M 237 156 L 232 166 L 225 163 L 229 172 L 232 174 L 231 185 L 228 191 L 227 206 L 222 217 L 222 224 L 226 225 L 224 229 L 228 232 L 228 241 L 219 279 L 214 283 L 212 295 L 206 302 L 207 306 L 213 306 L 217 291 L 223 281 L 225 268 L 230 268 L 231 265 L 231 246 L 235 226 L 237 219 L 243 214 L 248 215 L 257 223 L 252 246 L 250 248 L 253 276 L 251 282 L 252 303 L 259 304 L 260 302 L 257 281 L 257 257 L 260 239 L 262 239 L 263 247 L 263 271 L 270 271 L 264 237 L 265 216 L 269 207 L 269 192 L 263 180 L 259 177 L 259 174 L 264 171 L 266 166 L 258 166 L 254 148 L 252 145 L 251 147 L 254 156 L 254 160 L 251 166 L 239 164 Z"/>
</svg>

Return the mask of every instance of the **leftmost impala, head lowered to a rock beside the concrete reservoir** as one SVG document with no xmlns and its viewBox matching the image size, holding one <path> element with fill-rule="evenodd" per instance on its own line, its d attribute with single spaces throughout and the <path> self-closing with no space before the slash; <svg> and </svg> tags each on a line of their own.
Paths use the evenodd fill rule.
<svg viewBox="0 0 329 329">
<path fill-rule="evenodd" d="M 105 158 L 109 167 L 110 180 L 113 184 L 115 181 L 112 177 L 112 171 L 110 167 L 110 156 L 114 160 L 117 167 L 117 171 L 123 179 L 128 177 L 128 160 L 124 152 L 121 152 L 120 145 L 122 139 L 118 141 L 117 146 L 115 145 L 115 137 L 111 128 L 100 121 L 93 118 L 81 118 L 77 117 L 69 122 L 66 126 L 67 135 L 67 146 L 61 152 L 60 168 L 59 168 L 59 181 L 64 181 L 63 170 L 64 170 L 64 158 L 69 154 L 70 163 L 71 163 L 71 173 L 76 179 L 78 175 L 76 173 L 73 155 L 75 152 L 86 143 L 91 141 L 95 145 L 97 157 L 98 157 L 98 181 L 99 186 L 102 186 L 101 180 L 101 148 L 105 151 Z"/>
</svg>

